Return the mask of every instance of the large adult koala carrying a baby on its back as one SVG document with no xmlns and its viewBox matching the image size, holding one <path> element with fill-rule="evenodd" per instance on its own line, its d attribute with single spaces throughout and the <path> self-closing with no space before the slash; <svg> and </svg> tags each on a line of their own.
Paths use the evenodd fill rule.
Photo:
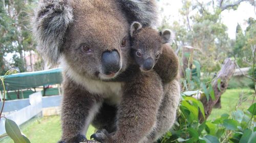
<svg viewBox="0 0 256 143">
<path fill-rule="evenodd" d="M 102 143 L 154 142 L 173 125 L 178 82 L 162 85 L 155 71 L 139 72 L 130 57 L 130 23 L 153 25 L 155 9 L 154 1 L 40 1 L 39 50 L 63 67 L 59 142 L 86 141 L 82 134 L 91 123 L 106 129 L 93 135 Z"/>
</svg>

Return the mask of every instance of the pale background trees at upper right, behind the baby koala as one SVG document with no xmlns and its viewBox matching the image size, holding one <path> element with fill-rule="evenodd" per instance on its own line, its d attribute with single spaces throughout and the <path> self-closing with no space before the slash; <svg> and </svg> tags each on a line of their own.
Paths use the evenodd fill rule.
<svg viewBox="0 0 256 143">
<path fill-rule="evenodd" d="M 255 1 L 182 0 L 183 6 L 179 11 L 181 20 L 169 23 L 170 17 L 165 16 L 160 30 L 170 28 L 176 32 L 172 46 L 178 54 L 184 46 L 194 47 L 194 59 L 200 61 L 204 73 L 219 71 L 227 57 L 235 58 L 240 67 L 248 67 L 252 62 L 248 55 L 256 41 L 255 19 L 247 20 L 246 31 L 238 25 L 235 40 L 228 38 L 227 26 L 221 19 L 224 10 L 236 10 L 241 2 L 255 5 Z"/>
</svg>

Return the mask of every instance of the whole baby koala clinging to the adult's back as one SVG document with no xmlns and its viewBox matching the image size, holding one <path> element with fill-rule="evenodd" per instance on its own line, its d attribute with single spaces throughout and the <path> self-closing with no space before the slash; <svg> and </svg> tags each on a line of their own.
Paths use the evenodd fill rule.
<svg viewBox="0 0 256 143">
<path fill-rule="evenodd" d="M 131 24 L 130 35 L 131 54 L 141 71 L 152 70 L 164 50 L 165 60 L 161 60 L 164 64 L 160 62 L 157 69 L 161 69 L 161 71 L 156 71 L 164 82 L 169 82 L 176 78 L 179 67 L 177 56 L 166 44 L 175 37 L 172 31 L 164 30 L 163 32 L 158 32 L 151 26 L 142 26 L 141 23 L 135 21 Z M 163 67 L 159 67 L 159 65 Z M 172 67 L 165 68 L 168 65 L 172 65 Z"/>
</svg>

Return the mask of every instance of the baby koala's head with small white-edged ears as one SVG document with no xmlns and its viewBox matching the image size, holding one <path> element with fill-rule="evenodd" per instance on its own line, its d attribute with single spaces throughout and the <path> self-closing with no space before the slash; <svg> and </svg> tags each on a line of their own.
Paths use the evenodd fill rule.
<svg viewBox="0 0 256 143">
<path fill-rule="evenodd" d="M 163 51 L 163 44 L 170 42 L 174 34 L 170 30 L 158 32 L 152 27 L 142 27 L 139 22 L 131 25 L 132 56 L 143 72 L 154 68 Z"/>
</svg>

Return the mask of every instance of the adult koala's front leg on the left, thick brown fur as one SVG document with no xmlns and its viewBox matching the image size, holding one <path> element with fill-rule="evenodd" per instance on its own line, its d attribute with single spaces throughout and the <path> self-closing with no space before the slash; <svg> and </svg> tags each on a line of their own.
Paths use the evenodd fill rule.
<svg viewBox="0 0 256 143">
<path fill-rule="evenodd" d="M 63 86 L 62 136 L 59 142 L 78 143 L 87 141 L 83 133 L 87 130 L 94 114 L 99 109 L 101 98 L 90 94 L 72 80 L 66 80 Z"/>
</svg>

